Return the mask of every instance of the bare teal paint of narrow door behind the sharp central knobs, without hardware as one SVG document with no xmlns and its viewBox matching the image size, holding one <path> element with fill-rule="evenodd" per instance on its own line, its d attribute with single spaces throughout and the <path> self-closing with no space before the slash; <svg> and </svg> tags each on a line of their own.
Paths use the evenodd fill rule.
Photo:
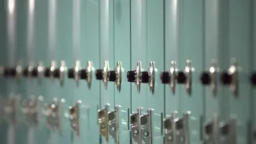
<svg viewBox="0 0 256 144">
<path fill-rule="evenodd" d="M 131 1 L 131 63 L 132 69 L 136 67 L 137 61 L 141 62 L 142 71 L 147 71 L 147 1 Z M 132 108 L 131 113 L 138 112 L 142 108 L 147 113 L 147 83 L 141 83 L 139 91 L 132 83 Z M 131 133 L 135 131 L 131 130 Z M 140 139 L 139 139 L 140 140 Z M 132 143 L 136 143 L 132 141 Z"/>
</svg>

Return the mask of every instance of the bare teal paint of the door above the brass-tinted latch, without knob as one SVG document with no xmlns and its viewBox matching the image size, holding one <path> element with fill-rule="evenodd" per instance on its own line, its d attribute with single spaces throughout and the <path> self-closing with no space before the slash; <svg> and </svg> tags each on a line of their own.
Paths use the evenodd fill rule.
<svg viewBox="0 0 256 144">
<path fill-rule="evenodd" d="M 115 68 L 114 61 L 114 34 L 113 34 L 113 0 L 99 1 L 99 47 L 100 47 L 100 68 L 103 68 L 105 61 L 108 61 L 109 70 Z M 100 85 L 100 107 L 99 109 L 108 107 L 109 111 L 114 109 L 114 85 L 107 83 Z M 108 134 L 107 134 L 108 135 Z M 109 135 L 104 138 L 101 137 L 102 143 L 113 143 L 113 138 Z"/>
</svg>

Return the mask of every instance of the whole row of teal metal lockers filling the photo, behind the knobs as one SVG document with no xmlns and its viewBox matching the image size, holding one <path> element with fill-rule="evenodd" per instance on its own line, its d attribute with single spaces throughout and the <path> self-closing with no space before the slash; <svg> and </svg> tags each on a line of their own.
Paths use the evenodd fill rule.
<svg viewBox="0 0 256 144">
<path fill-rule="evenodd" d="M 71 131 L 66 117 L 61 118 L 61 135 L 49 131 L 44 118 L 40 119 L 40 127 L 2 122 L 1 143 L 106 144 L 117 143 L 115 139 L 122 144 L 254 142 L 255 90 L 248 83 L 248 77 L 256 69 L 254 0 L 6 0 L 0 3 L 0 61 L 6 68 L 15 68 L 16 61 L 24 68 L 28 61 L 50 64 L 52 60 L 63 59 L 66 65 L 73 65 L 76 60 L 91 60 L 95 68 L 103 68 L 104 60 L 109 61 L 109 66 L 121 61 L 125 65 L 124 73 L 133 69 L 137 61 L 144 68 L 148 61 L 154 61 L 158 68 L 154 94 L 143 84 L 134 87 L 132 83 L 121 83 L 120 91 L 108 84 L 106 89 L 96 79 L 91 79 L 94 87 L 89 90 L 87 83 L 76 87 L 71 80 L 60 87 L 49 79 L 41 79 L 39 85 L 28 79 L 17 83 L 15 79 L 3 78 L 0 81 L 3 99 L 9 99 L 9 95 L 20 95 L 21 99 L 43 95 L 47 103 L 63 98 L 63 110 L 68 115 L 76 111 L 69 111 L 69 106 L 79 102 L 80 135 Z M 230 91 L 217 80 L 213 95 L 214 90 L 209 89 L 214 87 L 202 86 L 200 75 L 208 72 L 212 59 L 217 60 L 221 72 L 228 72 L 224 68 L 232 71 L 232 57 L 238 61 L 239 72 L 237 77 L 233 75 L 238 83 L 231 85 L 233 91 Z M 174 80 L 170 79 L 170 86 L 165 86 L 159 77 L 161 72 L 169 71 L 169 61 L 177 61 L 176 68 L 184 68 L 187 58 L 195 68 L 191 75 L 191 94 L 184 86 L 175 86 L 174 94 L 171 83 Z M 122 75 L 122 79 L 127 77 Z M 104 119 L 108 116 L 109 121 Z M 116 138 L 108 138 L 113 134 L 101 130 L 108 128 L 106 123 L 114 124 L 113 117 L 118 118 L 118 133 Z"/>
</svg>

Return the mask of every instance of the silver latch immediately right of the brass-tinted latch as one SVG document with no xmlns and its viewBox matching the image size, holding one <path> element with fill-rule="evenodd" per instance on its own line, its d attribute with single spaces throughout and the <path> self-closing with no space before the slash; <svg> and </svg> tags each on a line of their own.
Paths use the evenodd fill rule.
<svg viewBox="0 0 256 144">
<path fill-rule="evenodd" d="M 114 107 L 114 111 L 109 112 L 109 135 L 119 143 L 119 105 Z"/>
</svg>

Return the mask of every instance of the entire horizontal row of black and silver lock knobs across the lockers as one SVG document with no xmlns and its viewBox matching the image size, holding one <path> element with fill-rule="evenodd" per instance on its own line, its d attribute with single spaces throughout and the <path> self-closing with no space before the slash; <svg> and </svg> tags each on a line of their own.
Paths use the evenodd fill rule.
<svg viewBox="0 0 256 144">
<path fill-rule="evenodd" d="M 75 79 L 76 83 L 79 79 L 84 79 L 88 83 L 88 87 L 91 87 L 91 79 L 95 72 L 95 79 L 102 80 L 105 87 L 107 83 L 114 82 L 117 85 L 117 90 L 121 90 L 122 75 L 124 75 L 124 68 L 121 65 L 121 61 L 117 61 L 117 66 L 114 70 L 109 70 L 109 61 L 105 61 L 103 68 L 96 69 L 93 67 L 92 61 L 87 62 L 87 68 L 82 68 L 80 61 L 76 61 L 76 66 L 74 68 L 66 68 L 65 61 L 61 61 L 61 66 L 58 68 L 56 66 L 56 61 L 51 61 L 50 67 L 44 67 L 42 62 L 39 62 L 39 66 L 35 67 L 33 65 L 27 68 L 22 68 L 18 65 L 16 68 L 3 68 L 0 67 L 0 76 L 2 77 L 14 77 L 20 79 L 20 76 L 38 78 L 39 80 L 45 77 L 50 77 L 51 79 L 59 79 L 61 85 L 64 84 L 65 76 L 67 75 L 69 79 Z M 140 90 L 140 83 L 148 83 L 150 86 L 150 92 L 154 93 L 154 81 L 156 78 L 155 72 L 158 68 L 155 67 L 154 61 L 150 61 L 150 67 L 147 71 L 142 71 L 141 62 L 137 61 L 135 69 L 127 72 L 127 81 L 135 83 L 137 90 Z M 187 92 L 191 93 L 191 77 L 195 68 L 191 66 L 191 61 L 187 60 L 184 70 L 178 71 L 176 68 L 176 62 L 171 62 L 171 67 L 169 71 L 160 72 L 161 83 L 170 84 L 173 94 L 175 93 L 176 83 L 183 83 L 187 89 Z M 200 80 L 204 85 L 210 85 L 213 94 L 216 94 L 217 90 L 217 73 L 219 68 L 217 68 L 216 61 L 212 62 L 208 71 L 201 72 Z M 250 83 L 254 86 L 256 85 L 256 72 L 251 72 Z M 224 85 L 229 85 L 234 94 L 237 93 L 237 85 L 239 74 L 239 66 L 237 65 L 236 59 L 232 59 L 232 65 L 228 68 L 226 72 L 221 72 L 220 78 L 221 83 Z M 243 73 L 242 76 L 246 76 L 247 73 Z M 124 79 L 123 79 L 124 81 Z"/>
</svg>

